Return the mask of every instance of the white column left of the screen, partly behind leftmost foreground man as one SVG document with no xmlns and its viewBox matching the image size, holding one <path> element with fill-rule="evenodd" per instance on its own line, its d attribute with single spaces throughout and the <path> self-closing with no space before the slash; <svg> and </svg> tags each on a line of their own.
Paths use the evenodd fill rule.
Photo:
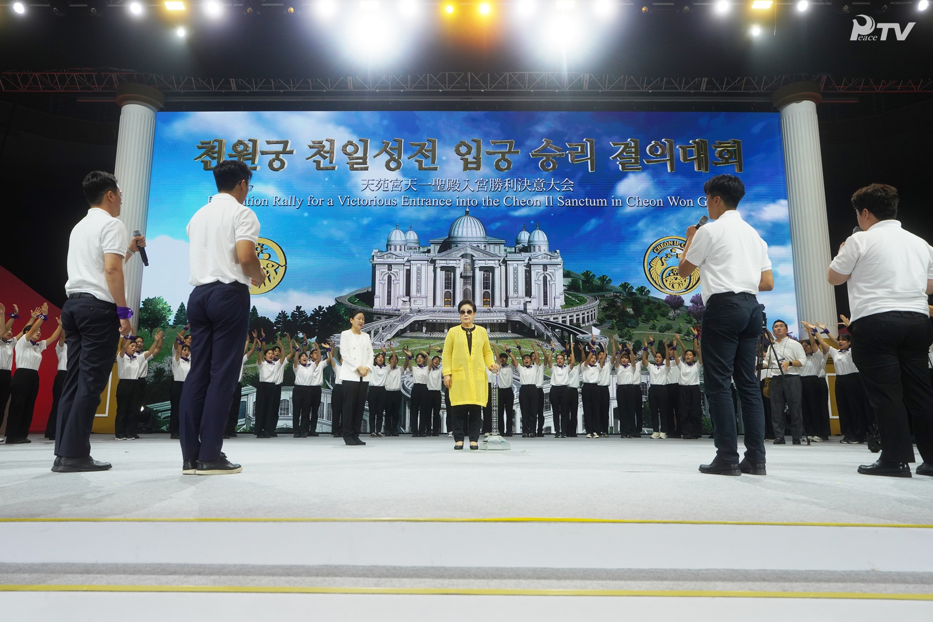
<svg viewBox="0 0 933 622">
<path fill-rule="evenodd" d="M 136 229 L 146 235 L 156 110 L 165 104 L 165 98 L 158 90 L 140 84 L 123 84 L 117 90 L 117 104 L 120 117 L 114 175 L 123 198 L 119 219 L 131 236 Z M 133 312 L 132 324 L 137 326 L 143 286 L 143 261 L 139 256 L 132 257 L 124 266 L 123 278 L 126 302 Z"/>
</svg>

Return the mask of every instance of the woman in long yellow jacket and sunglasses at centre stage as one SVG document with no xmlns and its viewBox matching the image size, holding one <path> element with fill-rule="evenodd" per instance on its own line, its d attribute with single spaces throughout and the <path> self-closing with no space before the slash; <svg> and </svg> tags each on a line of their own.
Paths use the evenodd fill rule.
<svg viewBox="0 0 933 622">
<path fill-rule="evenodd" d="M 486 369 L 498 371 L 486 329 L 473 324 L 476 305 L 461 300 L 460 325 L 447 331 L 441 356 L 444 385 L 451 397 L 453 449 L 464 449 L 464 427 L 469 431 L 469 449 L 480 449 L 482 408 L 489 399 Z"/>
</svg>

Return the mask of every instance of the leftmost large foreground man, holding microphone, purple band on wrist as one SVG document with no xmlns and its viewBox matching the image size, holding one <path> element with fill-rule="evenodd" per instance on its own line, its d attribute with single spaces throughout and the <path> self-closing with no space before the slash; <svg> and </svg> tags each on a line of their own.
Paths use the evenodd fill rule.
<svg viewBox="0 0 933 622">
<path fill-rule="evenodd" d="M 93 171 L 82 187 L 91 209 L 72 229 L 68 241 L 68 282 L 64 285 L 68 299 L 62 308 L 68 369 L 52 466 L 58 473 L 110 468 L 109 463 L 91 458 L 91 425 L 110 379 L 119 336 L 132 332 L 123 264 L 146 246 L 143 236 L 129 240 L 117 218 L 121 201 L 116 177 Z"/>
</svg>

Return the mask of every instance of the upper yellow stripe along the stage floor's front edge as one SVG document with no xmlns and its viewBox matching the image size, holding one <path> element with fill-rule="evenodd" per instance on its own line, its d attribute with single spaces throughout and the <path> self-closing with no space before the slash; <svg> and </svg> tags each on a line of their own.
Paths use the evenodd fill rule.
<svg viewBox="0 0 933 622">
<path fill-rule="evenodd" d="M 870 522 L 778 522 L 764 520 L 650 520 L 640 518 L 0 518 L 4 522 L 549 522 L 628 525 L 763 525 L 770 527 L 894 527 L 933 529 L 933 525 Z"/>
</svg>

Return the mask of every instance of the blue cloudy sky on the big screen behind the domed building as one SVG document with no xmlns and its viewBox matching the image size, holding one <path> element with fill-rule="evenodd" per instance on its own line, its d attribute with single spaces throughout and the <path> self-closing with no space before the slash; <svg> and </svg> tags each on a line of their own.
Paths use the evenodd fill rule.
<svg viewBox="0 0 933 622">
<path fill-rule="evenodd" d="M 453 219 L 464 213 L 462 207 L 403 206 L 403 196 L 423 199 L 471 198 L 480 205 L 470 213 L 480 218 L 491 236 L 503 238 L 509 245 L 522 224 L 532 230 L 536 222 L 550 239 L 551 250 L 559 249 L 564 268 L 592 270 L 607 274 L 614 284 L 628 281 L 650 287 L 643 270 L 645 252 L 651 242 L 667 236 L 683 236 L 691 223 L 705 214 L 697 199 L 703 195 L 703 182 L 716 173 L 734 173 L 732 166 L 710 166 L 710 173 L 694 171 L 693 164 L 675 162 L 675 172 L 664 164 L 642 163 L 641 172 L 622 173 L 610 159 L 616 152 L 610 142 L 637 138 L 640 155 L 648 158 L 651 141 L 670 138 L 675 145 L 687 145 L 691 139 L 709 141 L 710 159 L 714 159 L 715 141 L 742 141 L 744 172 L 740 174 L 745 200 L 740 211 L 759 230 L 769 245 L 775 273 L 775 289 L 761 295 L 769 317 L 783 317 L 793 325 L 797 312 L 794 299 L 790 231 L 787 218 L 787 186 L 780 117 L 777 113 L 581 113 L 581 112 L 166 112 L 159 113 L 149 194 L 146 235 L 152 257 L 143 282 L 143 297 L 162 296 L 176 308 L 188 298 L 188 220 L 208 197 L 215 194 L 212 173 L 204 171 L 195 158 L 201 153 L 201 141 L 221 138 L 226 151 L 240 139 L 259 140 L 260 149 L 273 149 L 266 141 L 289 140 L 293 155 L 285 155 L 287 166 L 273 172 L 268 166 L 272 156 L 258 157 L 254 173 L 254 199 L 269 201 L 256 206 L 261 223 L 260 235 L 279 243 L 287 256 L 285 280 L 272 292 L 253 297 L 258 310 L 274 315 L 290 311 L 295 305 L 312 308 L 332 304 L 334 297 L 369 285 L 369 256 L 374 248 L 385 249 L 385 240 L 396 223 L 418 233 L 422 245 L 447 235 Z M 335 171 L 317 171 L 308 144 L 313 140 L 336 140 Z M 348 140 L 369 138 L 369 171 L 351 172 L 341 145 Z M 375 158 L 384 141 L 405 141 L 403 166 L 396 172 L 384 167 L 385 156 Z M 409 142 L 438 139 L 437 172 L 418 171 Z M 491 140 L 515 141 L 521 154 L 510 156 L 513 166 L 505 173 L 494 169 L 494 156 L 484 156 L 481 171 L 463 171 L 461 159 L 454 154 L 460 141 L 480 138 L 482 149 L 494 149 Z M 548 138 L 566 149 L 566 143 L 595 141 L 596 170 L 590 173 L 586 163 L 572 164 L 558 159 L 557 169 L 541 171 L 538 159 L 530 152 Z M 472 143 L 470 143 L 472 145 Z M 544 179 L 550 186 L 554 179 L 560 187 L 565 179 L 573 182 L 573 191 L 483 192 L 463 190 L 439 192 L 431 187 L 434 179 L 479 180 Z M 367 179 L 417 179 L 417 191 L 364 190 Z M 482 182 L 480 182 L 481 184 Z M 487 182 L 489 183 L 489 182 Z M 407 186 L 408 182 L 405 183 Z M 333 199 L 335 205 L 307 206 L 307 198 Z M 295 206 L 273 205 L 274 197 L 296 197 Z M 339 197 L 396 199 L 395 206 L 341 206 Z M 544 199 L 553 197 L 553 205 L 498 207 L 481 205 L 483 197 L 518 197 Z M 622 201 L 617 207 L 560 206 L 564 199 L 611 198 Z M 661 207 L 632 206 L 629 197 L 662 200 Z M 692 199 L 692 207 L 671 206 L 668 197 Z M 696 292 L 700 290 L 697 289 Z M 656 295 L 660 293 L 655 291 Z M 663 294 L 660 294 L 661 297 Z M 692 294 L 690 294 L 692 295 Z"/>
</svg>

